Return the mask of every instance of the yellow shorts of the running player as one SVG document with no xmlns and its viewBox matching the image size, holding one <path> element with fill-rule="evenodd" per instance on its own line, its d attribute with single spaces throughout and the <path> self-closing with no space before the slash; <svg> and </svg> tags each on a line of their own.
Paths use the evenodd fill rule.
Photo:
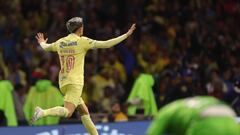
<svg viewBox="0 0 240 135">
<path fill-rule="evenodd" d="M 73 103 L 75 107 L 77 107 L 84 103 L 82 99 L 82 89 L 82 85 L 68 84 L 63 86 L 60 90 L 64 95 L 64 101 Z"/>
</svg>

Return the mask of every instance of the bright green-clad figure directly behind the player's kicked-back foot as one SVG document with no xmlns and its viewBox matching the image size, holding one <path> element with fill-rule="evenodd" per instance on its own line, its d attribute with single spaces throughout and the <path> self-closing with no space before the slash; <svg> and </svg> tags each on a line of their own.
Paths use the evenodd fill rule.
<svg viewBox="0 0 240 135">
<path fill-rule="evenodd" d="M 49 80 L 38 80 L 36 84 L 30 88 L 23 110 L 27 121 L 30 123 L 36 106 L 46 109 L 56 105 L 63 105 L 63 96 L 58 89 L 53 86 Z M 35 124 L 52 125 L 59 123 L 59 120 L 59 117 L 46 117 L 35 122 Z"/>
</svg>

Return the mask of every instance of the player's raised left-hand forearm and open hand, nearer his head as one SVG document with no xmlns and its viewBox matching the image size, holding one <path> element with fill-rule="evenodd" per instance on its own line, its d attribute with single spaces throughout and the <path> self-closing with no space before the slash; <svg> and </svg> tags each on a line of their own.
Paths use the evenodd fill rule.
<svg viewBox="0 0 240 135">
<path fill-rule="evenodd" d="M 38 41 L 38 44 L 46 51 L 50 51 L 52 50 L 52 47 L 53 47 L 53 44 L 48 44 L 47 43 L 47 40 L 48 38 L 44 38 L 44 35 L 43 33 L 37 33 L 37 35 L 35 36 L 37 41 Z"/>
</svg>

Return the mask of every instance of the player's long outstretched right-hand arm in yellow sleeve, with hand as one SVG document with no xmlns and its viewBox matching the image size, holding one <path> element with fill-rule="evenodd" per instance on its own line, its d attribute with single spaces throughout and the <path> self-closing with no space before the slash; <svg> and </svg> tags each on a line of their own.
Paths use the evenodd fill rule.
<svg viewBox="0 0 240 135">
<path fill-rule="evenodd" d="M 128 30 L 128 32 L 126 32 L 125 34 L 123 34 L 119 37 L 116 37 L 116 38 L 113 38 L 113 39 L 110 39 L 107 41 L 95 41 L 93 43 L 94 47 L 95 48 L 110 48 L 114 45 L 117 45 L 120 42 L 122 42 L 123 40 L 125 40 L 127 37 L 131 36 L 135 29 L 136 29 L 136 24 L 133 24 L 130 27 L 130 29 Z"/>
</svg>

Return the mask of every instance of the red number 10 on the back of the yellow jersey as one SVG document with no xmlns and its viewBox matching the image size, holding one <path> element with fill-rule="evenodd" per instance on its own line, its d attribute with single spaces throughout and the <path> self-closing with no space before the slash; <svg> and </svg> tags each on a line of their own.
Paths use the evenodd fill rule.
<svg viewBox="0 0 240 135">
<path fill-rule="evenodd" d="M 69 73 L 73 68 L 74 68 L 74 63 L 75 63 L 75 57 L 73 55 L 69 56 L 61 56 L 61 73 L 64 73 L 65 70 L 67 73 Z M 65 69 L 65 64 L 66 64 L 66 69 Z"/>
</svg>

